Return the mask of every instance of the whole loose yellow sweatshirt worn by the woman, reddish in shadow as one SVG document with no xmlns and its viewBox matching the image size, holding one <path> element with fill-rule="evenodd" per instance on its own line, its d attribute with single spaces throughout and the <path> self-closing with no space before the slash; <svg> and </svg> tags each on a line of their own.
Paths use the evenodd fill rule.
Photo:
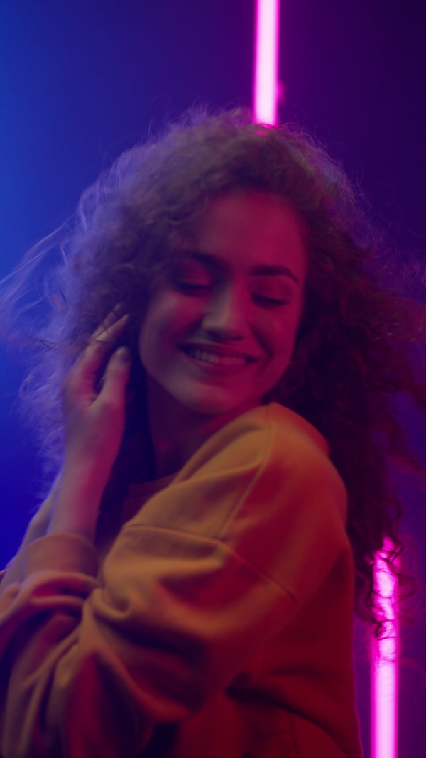
<svg viewBox="0 0 426 758">
<path fill-rule="evenodd" d="M 359 758 L 346 492 L 318 431 L 253 409 L 144 500 L 105 559 L 31 543 L 0 597 L 2 758 Z"/>
</svg>

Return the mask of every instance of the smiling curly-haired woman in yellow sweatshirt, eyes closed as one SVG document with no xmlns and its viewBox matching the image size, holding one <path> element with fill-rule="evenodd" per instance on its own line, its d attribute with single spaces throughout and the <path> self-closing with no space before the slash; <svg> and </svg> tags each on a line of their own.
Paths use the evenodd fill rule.
<svg viewBox="0 0 426 758">
<path fill-rule="evenodd" d="M 354 591 L 380 631 L 391 398 L 424 406 L 363 224 L 307 136 L 233 113 L 83 195 L 31 335 L 60 473 L 2 580 L 3 758 L 360 755 Z"/>
</svg>

